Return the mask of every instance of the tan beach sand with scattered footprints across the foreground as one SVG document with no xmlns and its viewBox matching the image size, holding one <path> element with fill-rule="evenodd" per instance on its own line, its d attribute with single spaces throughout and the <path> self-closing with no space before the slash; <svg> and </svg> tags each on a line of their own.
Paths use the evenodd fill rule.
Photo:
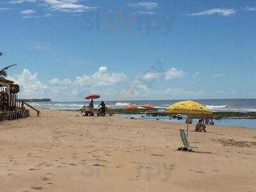
<svg viewBox="0 0 256 192">
<path fill-rule="evenodd" d="M 42 110 L 0 123 L 0 191 L 256 191 L 256 131 Z M 209 153 L 211 152 L 211 153 Z"/>
</svg>

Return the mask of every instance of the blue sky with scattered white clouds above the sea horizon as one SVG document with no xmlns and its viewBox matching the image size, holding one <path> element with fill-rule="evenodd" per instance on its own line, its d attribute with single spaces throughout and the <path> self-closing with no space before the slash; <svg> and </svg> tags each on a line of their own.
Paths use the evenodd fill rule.
<svg viewBox="0 0 256 192">
<path fill-rule="evenodd" d="M 20 98 L 256 98 L 256 1 L 1 0 Z"/>
</svg>

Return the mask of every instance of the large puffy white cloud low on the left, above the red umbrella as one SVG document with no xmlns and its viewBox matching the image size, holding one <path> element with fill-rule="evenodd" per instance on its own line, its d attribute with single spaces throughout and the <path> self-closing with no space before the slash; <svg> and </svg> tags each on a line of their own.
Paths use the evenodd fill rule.
<svg viewBox="0 0 256 192">
<path fill-rule="evenodd" d="M 42 98 L 50 97 L 54 99 L 81 99 L 85 93 L 93 92 L 96 89 L 107 90 L 106 87 L 124 81 L 123 73 L 109 73 L 107 67 L 100 67 L 92 75 L 84 74 L 81 77 L 72 79 L 54 78 L 47 83 L 42 83 L 38 79 L 38 74 L 32 74 L 28 69 L 24 69 L 21 74 L 8 79 L 20 84 L 20 98 Z"/>
</svg>

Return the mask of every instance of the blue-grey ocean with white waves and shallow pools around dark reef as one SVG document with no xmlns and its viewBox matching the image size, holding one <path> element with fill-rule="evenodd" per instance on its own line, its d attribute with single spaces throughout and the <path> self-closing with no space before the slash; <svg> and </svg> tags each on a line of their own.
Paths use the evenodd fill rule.
<svg viewBox="0 0 256 192">
<path fill-rule="evenodd" d="M 100 104 L 100 99 L 95 100 L 95 106 Z M 180 100 L 122 100 L 122 101 L 105 101 L 109 108 L 125 108 L 129 104 L 136 104 L 138 106 L 143 104 L 152 104 L 156 106 L 159 110 L 170 106 L 175 102 Z M 238 112 L 256 112 L 256 99 L 198 99 L 196 102 L 200 102 L 207 106 L 212 111 L 238 111 Z M 47 108 L 47 109 L 81 109 L 89 101 L 84 100 L 81 102 L 31 102 L 35 107 Z M 148 120 L 161 120 L 161 121 L 171 121 L 171 122 L 184 122 L 183 120 L 175 120 L 164 117 L 145 117 L 140 115 L 122 115 L 122 117 L 134 117 L 143 118 Z M 185 117 L 185 116 L 184 116 Z M 195 122 L 196 120 L 194 120 Z M 232 125 L 232 126 L 242 126 L 250 127 L 256 129 L 256 120 L 254 119 L 222 119 L 215 120 L 216 125 Z"/>
</svg>

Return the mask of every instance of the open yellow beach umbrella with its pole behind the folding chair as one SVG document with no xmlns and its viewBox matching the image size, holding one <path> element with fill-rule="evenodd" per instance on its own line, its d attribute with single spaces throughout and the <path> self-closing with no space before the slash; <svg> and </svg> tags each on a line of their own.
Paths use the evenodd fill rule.
<svg viewBox="0 0 256 192">
<path fill-rule="evenodd" d="M 180 113 L 189 115 L 211 115 L 212 112 L 204 105 L 193 100 L 184 100 L 172 104 L 166 111 L 169 113 Z M 188 123 L 187 123 L 187 137 L 188 137 Z"/>
</svg>

